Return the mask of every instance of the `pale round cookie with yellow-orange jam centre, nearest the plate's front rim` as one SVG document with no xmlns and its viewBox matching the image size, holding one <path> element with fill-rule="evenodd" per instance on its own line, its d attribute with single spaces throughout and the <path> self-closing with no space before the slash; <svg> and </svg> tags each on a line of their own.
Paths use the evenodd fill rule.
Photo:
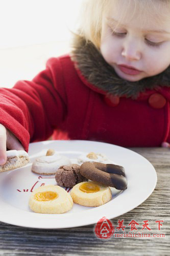
<svg viewBox="0 0 170 256">
<path fill-rule="evenodd" d="M 33 191 L 29 206 L 39 214 L 63 214 L 72 208 L 73 201 L 64 188 L 46 185 Z"/>
</svg>

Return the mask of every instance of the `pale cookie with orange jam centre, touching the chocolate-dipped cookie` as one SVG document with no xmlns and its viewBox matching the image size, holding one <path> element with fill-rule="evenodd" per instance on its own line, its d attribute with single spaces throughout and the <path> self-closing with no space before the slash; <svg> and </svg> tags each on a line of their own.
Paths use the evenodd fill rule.
<svg viewBox="0 0 170 256">
<path fill-rule="evenodd" d="M 92 207 L 105 204 L 112 198 L 110 187 L 93 181 L 81 182 L 75 185 L 70 195 L 74 203 Z"/>
</svg>

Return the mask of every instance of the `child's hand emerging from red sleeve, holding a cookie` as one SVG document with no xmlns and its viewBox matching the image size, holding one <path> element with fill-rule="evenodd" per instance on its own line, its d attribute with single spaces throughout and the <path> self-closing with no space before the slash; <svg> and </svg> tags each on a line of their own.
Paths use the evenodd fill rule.
<svg viewBox="0 0 170 256">
<path fill-rule="evenodd" d="M 0 124 L 0 164 L 7 161 L 6 150 L 24 150 L 19 140 L 2 124 Z"/>
</svg>

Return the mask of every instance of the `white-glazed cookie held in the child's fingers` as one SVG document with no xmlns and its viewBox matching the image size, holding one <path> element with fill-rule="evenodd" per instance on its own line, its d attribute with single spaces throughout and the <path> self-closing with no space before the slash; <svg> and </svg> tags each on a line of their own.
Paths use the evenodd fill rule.
<svg viewBox="0 0 170 256">
<path fill-rule="evenodd" d="M 8 172 L 22 166 L 25 166 L 30 162 L 29 155 L 23 150 L 9 150 L 7 151 L 7 162 L 0 165 L 0 173 Z"/>
</svg>

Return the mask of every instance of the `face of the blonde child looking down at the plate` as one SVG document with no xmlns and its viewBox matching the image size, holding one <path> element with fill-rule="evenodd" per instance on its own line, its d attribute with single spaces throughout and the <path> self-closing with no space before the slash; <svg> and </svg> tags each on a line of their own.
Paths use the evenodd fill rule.
<svg viewBox="0 0 170 256">
<path fill-rule="evenodd" d="M 104 59 L 119 77 L 129 81 L 161 73 L 170 65 L 170 15 L 167 8 L 162 7 L 161 12 L 169 19 L 166 16 L 156 19 L 154 10 L 141 18 L 137 9 L 133 18 L 126 15 L 119 24 L 124 5 L 125 0 L 118 0 L 103 19 L 100 50 Z M 129 13 L 133 10 L 131 6 Z"/>
</svg>

